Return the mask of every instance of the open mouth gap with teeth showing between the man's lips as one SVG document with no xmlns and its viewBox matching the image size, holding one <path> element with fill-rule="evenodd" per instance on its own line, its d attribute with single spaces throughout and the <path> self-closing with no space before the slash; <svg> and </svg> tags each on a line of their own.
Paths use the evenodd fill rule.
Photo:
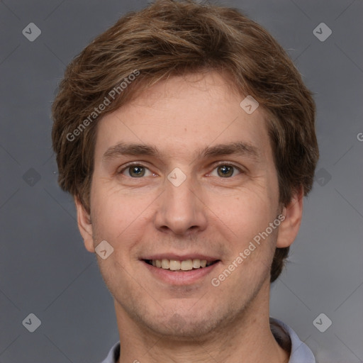
<svg viewBox="0 0 363 363">
<path fill-rule="evenodd" d="M 186 272 L 196 269 L 204 269 L 219 262 L 219 259 L 208 261 L 207 259 L 143 259 L 143 261 L 150 266 L 159 269 L 166 269 L 172 272 Z"/>
</svg>

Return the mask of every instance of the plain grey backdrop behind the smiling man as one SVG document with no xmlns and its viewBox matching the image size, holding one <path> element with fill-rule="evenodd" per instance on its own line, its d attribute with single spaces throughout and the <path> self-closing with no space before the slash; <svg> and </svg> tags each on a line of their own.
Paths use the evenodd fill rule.
<svg viewBox="0 0 363 363">
<path fill-rule="evenodd" d="M 362 362 L 363 1 L 223 3 L 279 40 L 318 106 L 315 184 L 287 270 L 272 286 L 271 315 L 294 328 L 318 362 Z M 72 199 L 57 186 L 50 104 L 72 57 L 146 4 L 0 2 L 1 363 L 99 362 L 118 340 L 112 298 L 83 247 Z M 33 42 L 22 34 L 31 22 L 42 32 Z M 323 42 L 313 34 L 322 22 L 333 31 Z M 22 325 L 29 313 L 41 320 L 34 333 Z M 313 325 L 320 313 L 333 322 L 324 333 Z"/>
</svg>

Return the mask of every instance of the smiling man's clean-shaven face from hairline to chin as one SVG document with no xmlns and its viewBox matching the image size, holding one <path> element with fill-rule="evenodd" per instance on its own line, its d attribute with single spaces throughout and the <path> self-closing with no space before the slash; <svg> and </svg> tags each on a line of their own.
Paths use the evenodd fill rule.
<svg viewBox="0 0 363 363">
<path fill-rule="evenodd" d="M 119 318 L 196 337 L 236 321 L 268 286 L 275 247 L 294 238 L 276 222 L 264 111 L 247 114 L 242 99 L 222 74 L 174 77 L 99 122 L 91 223 L 77 208 L 86 248 L 113 247 L 97 258 Z"/>
</svg>

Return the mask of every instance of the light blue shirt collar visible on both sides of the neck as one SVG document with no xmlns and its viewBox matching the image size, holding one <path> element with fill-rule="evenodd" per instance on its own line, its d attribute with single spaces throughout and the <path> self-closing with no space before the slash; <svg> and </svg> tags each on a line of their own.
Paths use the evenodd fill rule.
<svg viewBox="0 0 363 363">
<path fill-rule="evenodd" d="M 277 319 L 270 318 L 270 320 L 279 324 L 282 328 L 284 328 L 284 330 L 286 330 L 286 333 L 288 333 L 290 336 L 291 354 L 289 363 L 315 363 L 313 352 L 311 352 L 311 350 L 305 343 L 301 342 L 294 330 L 292 330 L 289 325 L 286 325 L 282 323 L 282 321 Z M 272 330 L 272 333 L 274 334 L 275 338 L 277 338 L 277 333 L 275 333 L 274 330 Z M 108 352 L 108 356 L 106 357 L 106 359 L 104 359 L 104 361 L 101 363 L 116 363 L 119 356 L 120 342 L 117 342 L 115 345 L 113 345 L 110 352 Z"/>
</svg>

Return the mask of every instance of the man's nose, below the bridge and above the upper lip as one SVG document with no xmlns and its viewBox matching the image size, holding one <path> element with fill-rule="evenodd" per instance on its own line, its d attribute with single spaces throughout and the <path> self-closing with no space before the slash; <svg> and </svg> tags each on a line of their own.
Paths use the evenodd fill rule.
<svg viewBox="0 0 363 363">
<path fill-rule="evenodd" d="M 164 193 L 158 201 L 155 215 L 155 227 L 158 230 L 174 235 L 189 235 L 206 229 L 206 206 L 201 189 L 191 178 L 187 177 L 179 186 L 167 180 Z"/>
</svg>

